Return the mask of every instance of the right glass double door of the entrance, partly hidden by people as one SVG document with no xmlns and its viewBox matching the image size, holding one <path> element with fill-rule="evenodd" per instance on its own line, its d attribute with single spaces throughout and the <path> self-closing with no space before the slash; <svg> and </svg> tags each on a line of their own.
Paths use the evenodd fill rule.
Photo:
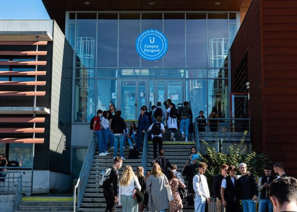
<svg viewBox="0 0 297 212">
<path fill-rule="evenodd" d="M 155 96 L 157 102 L 161 102 L 163 104 L 163 102 L 167 99 L 171 99 L 171 101 L 177 106 L 178 103 L 183 103 L 185 99 L 185 81 L 157 80 Z"/>
</svg>

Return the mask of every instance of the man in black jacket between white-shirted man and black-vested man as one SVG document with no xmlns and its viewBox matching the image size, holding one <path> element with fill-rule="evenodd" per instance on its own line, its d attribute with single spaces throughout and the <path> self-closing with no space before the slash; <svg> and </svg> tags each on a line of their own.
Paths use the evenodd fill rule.
<svg viewBox="0 0 297 212">
<path fill-rule="evenodd" d="M 228 166 L 226 164 L 223 164 L 221 166 L 221 173 L 216 175 L 212 181 L 211 191 L 212 194 L 216 197 L 217 212 L 221 212 L 223 207 L 221 198 L 221 185 L 223 178 L 227 175 L 227 169 Z"/>
</svg>

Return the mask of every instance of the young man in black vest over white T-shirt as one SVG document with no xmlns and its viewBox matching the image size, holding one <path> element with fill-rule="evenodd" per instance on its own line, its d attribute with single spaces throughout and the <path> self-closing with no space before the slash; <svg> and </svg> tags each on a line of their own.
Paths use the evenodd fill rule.
<svg viewBox="0 0 297 212">
<path fill-rule="evenodd" d="M 226 212 L 239 212 L 239 182 L 236 169 L 234 166 L 229 166 L 227 172 L 229 175 L 222 180 L 221 185 L 222 204 Z"/>
</svg>

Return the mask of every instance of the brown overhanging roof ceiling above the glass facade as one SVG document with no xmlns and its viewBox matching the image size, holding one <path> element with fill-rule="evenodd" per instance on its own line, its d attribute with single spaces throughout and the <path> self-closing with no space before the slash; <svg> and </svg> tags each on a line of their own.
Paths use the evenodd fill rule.
<svg viewBox="0 0 297 212">
<path fill-rule="evenodd" d="M 252 0 L 42 0 L 64 31 L 65 11 L 241 11 Z M 85 2 L 89 2 L 86 4 Z M 154 4 L 151 5 L 150 2 Z M 219 2 L 219 4 L 216 4 Z"/>
</svg>

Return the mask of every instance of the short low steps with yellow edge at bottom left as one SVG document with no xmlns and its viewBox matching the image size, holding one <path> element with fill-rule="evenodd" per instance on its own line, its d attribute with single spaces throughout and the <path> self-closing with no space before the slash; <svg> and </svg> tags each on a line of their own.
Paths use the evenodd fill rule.
<svg viewBox="0 0 297 212">
<path fill-rule="evenodd" d="M 14 212 L 73 212 L 73 197 L 22 197 Z"/>
</svg>

